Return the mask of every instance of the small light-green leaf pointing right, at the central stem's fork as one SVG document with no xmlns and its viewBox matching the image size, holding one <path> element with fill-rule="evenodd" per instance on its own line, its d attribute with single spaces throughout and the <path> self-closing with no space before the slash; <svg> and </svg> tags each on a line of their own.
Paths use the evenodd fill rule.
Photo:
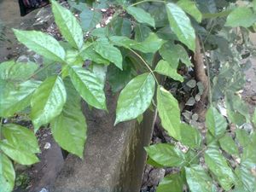
<svg viewBox="0 0 256 192">
<path fill-rule="evenodd" d="M 177 73 L 177 69 L 172 68 L 167 61 L 160 60 L 154 69 L 155 72 L 166 75 L 174 80 L 183 82 L 183 76 Z"/>
</svg>

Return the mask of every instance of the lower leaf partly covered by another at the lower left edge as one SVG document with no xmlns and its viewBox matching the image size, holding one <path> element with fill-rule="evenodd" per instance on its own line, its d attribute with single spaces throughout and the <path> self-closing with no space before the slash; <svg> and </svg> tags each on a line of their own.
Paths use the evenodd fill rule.
<svg viewBox="0 0 256 192">
<path fill-rule="evenodd" d="M 38 157 L 27 150 L 22 150 L 21 148 L 15 147 L 8 143 L 6 140 L 0 142 L 0 148 L 4 154 L 7 154 L 10 159 L 15 160 L 21 165 L 29 166 L 37 163 Z"/>
</svg>

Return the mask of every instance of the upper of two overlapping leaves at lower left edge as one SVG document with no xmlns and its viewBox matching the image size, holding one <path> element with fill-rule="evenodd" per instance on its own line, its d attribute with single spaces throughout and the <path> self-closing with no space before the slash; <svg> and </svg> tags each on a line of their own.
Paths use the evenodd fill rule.
<svg viewBox="0 0 256 192">
<path fill-rule="evenodd" d="M 24 126 L 15 124 L 4 125 L 3 136 L 14 147 L 31 153 L 40 153 L 37 137 Z"/>
</svg>

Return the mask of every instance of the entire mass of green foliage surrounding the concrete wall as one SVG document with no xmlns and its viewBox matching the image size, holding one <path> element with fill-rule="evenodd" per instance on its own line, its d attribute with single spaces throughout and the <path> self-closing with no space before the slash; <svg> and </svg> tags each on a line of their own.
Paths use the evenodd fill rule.
<svg viewBox="0 0 256 192">
<path fill-rule="evenodd" d="M 90 107 L 108 110 L 106 76 L 112 90 L 121 90 L 115 125 L 140 119 L 154 105 L 156 94 L 161 124 L 174 144 L 145 148 L 148 163 L 179 168 L 179 172 L 160 182 L 158 192 L 183 191 L 185 186 L 192 192 L 218 191 L 218 185 L 227 191 L 256 190 L 256 134 L 253 129 L 243 129 L 251 120 L 255 126 L 255 113 L 251 119 L 247 106 L 235 94 L 244 84 L 241 59 L 250 49 L 246 27 L 253 30 L 255 25 L 255 1 L 242 5 L 218 0 L 70 2 L 81 24 L 68 9 L 55 0 L 51 3 L 62 34 L 60 41 L 43 32 L 14 30 L 20 43 L 44 56 L 43 67 L 15 61 L 0 65 L 1 191 L 14 188 L 11 160 L 32 165 L 38 162 L 36 154 L 40 153 L 33 132 L 9 123 L 9 119 L 27 113 L 34 132 L 49 125 L 61 148 L 83 158 L 86 120 L 81 98 Z M 101 10 L 111 8 L 115 9 L 112 20 L 96 27 L 104 16 Z M 240 31 L 231 27 L 240 27 Z M 194 61 L 189 57 L 195 52 L 196 38 L 208 53 L 205 59 L 211 69 L 206 137 L 194 126 L 181 122 L 177 99 L 156 77 L 159 73 L 177 84 L 195 88 L 196 82 L 188 82 L 177 70 L 191 70 Z M 89 66 L 84 64 L 87 61 Z M 42 75 L 53 66 L 55 70 Z M 202 94 L 202 87 L 197 86 Z M 218 110 L 223 101 L 226 117 Z M 231 124 L 236 126 L 236 133 L 230 130 Z M 189 149 L 184 152 L 176 143 Z"/>
</svg>

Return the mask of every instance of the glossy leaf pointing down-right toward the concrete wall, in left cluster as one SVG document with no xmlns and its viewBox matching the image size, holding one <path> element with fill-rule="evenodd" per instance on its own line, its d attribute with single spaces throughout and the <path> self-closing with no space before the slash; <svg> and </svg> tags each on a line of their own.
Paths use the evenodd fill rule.
<svg viewBox="0 0 256 192">
<path fill-rule="evenodd" d="M 104 84 L 94 73 L 83 67 L 69 67 L 69 75 L 75 89 L 90 106 L 107 109 Z"/>
</svg>

